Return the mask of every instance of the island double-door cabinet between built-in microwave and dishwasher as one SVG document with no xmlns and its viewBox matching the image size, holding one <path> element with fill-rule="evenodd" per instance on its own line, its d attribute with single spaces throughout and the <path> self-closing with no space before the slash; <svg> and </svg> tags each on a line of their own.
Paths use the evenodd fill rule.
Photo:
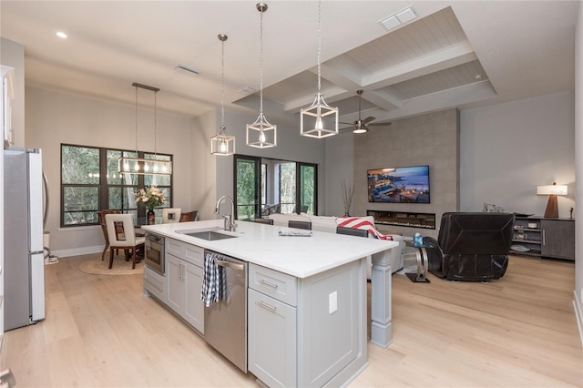
<svg viewBox="0 0 583 388">
<path fill-rule="evenodd" d="M 192 263 L 202 262 L 203 250 L 178 240 L 166 241 L 166 304 L 192 327 L 204 333 L 204 304 L 200 301 L 203 270 Z M 170 251 L 184 256 L 177 257 Z"/>
</svg>

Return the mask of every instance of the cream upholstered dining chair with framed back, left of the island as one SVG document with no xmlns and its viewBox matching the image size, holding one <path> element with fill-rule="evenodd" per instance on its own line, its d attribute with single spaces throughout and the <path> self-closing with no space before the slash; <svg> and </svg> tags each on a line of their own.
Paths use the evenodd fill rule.
<svg viewBox="0 0 583 388">
<path fill-rule="evenodd" d="M 118 225 L 123 228 L 123 239 L 118 233 Z M 113 266 L 114 249 L 131 250 L 131 269 L 136 268 L 138 250 L 144 250 L 145 237 L 136 237 L 134 230 L 134 220 L 131 214 L 107 214 L 106 215 L 107 237 L 109 238 L 109 270 Z"/>
</svg>

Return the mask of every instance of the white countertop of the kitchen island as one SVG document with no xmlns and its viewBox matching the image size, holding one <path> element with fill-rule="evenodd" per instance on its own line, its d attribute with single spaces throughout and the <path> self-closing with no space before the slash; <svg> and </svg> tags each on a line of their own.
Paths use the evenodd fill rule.
<svg viewBox="0 0 583 388">
<path fill-rule="evenodd" d="M 278 235 L 280 230 L 294 229 L 247 221 L 237 221 L 237 225 L 236 232 L 222 230 L 223 220 L 144 225 L 141 229 L 298 278 L 307 278 L 398 245 L 396 241 L 364 239 L 315 230 L 311 237 L 284 237 Z M 237 238 L 209 241 L 177 232 L 210 229 L 236 235 Z"/>
</svg>

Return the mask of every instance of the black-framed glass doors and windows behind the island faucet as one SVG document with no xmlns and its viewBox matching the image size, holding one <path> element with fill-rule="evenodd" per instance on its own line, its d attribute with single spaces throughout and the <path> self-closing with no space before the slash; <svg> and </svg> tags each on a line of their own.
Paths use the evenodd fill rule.
<svg viewBox="0 0 583 388">
<path fill-rule="evenodd" d="M 272 212 L 318 214 L 317 168 L 311 163 L 235 155 L 236 220 L 255 220 Z"/>
</svg>

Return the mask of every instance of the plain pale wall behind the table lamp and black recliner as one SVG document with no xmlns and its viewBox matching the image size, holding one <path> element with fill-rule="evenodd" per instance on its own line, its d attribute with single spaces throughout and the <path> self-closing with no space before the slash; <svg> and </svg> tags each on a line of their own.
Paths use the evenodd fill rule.
<svg viewBox="0 0 583 388">
<path fill-rule="evenodd" d="M 506 211 L 542 215 L 547 196 L 537 185 L 568 185 L 560 217 L 575 207 L 574 94 L 572 91 L 461 111 L 460 209 L 484 202 Z"/>
</svg>

